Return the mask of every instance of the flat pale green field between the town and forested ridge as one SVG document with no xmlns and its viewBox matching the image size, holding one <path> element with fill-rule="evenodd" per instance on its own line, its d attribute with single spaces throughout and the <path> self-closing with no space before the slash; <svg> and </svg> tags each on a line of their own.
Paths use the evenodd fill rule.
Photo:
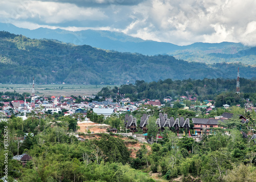
<svg viewBox="0 0 256 182">
<path fill-rule="evenodd" d="M 103 87 L 107 86 L 114 87 L 115 85 L 35 85 L 35 94 L 39 96 L 89 96 L 97 94 Z M 31 94 L 32 85 L 0 84 L 0 92 L 13 92 L 14 90 L 20 94 L 24 92 Z"/>
</svg>

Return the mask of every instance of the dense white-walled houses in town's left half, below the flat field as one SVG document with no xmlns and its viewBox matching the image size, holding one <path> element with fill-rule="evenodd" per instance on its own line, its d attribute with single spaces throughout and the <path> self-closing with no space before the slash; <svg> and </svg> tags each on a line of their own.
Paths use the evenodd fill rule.
<svg viewBox="0 0 256 182">
<path fill-rule="evenodd" d="M 2 98 L 8 97 L 4 95 Z M 3 116 L 15 114 L 25 120 L 27 119 L 26 114 L 31 113 L 32 111 L 35 112 L 35 114 L 54 114 L 64 110 L 65 116 L 67 116 L 74 113 L 86 115 L 87 111 L 92 109 L 96 114 L 108 117 L 115 112 L 122 113 L 127 111 L 135 111 L 141 105 L 161 106 L 160 100 L 150 99 L 143 99 L 138 102 L 131 102 L 130 98 L 122 98 L 120 102 L 113 102 L 112 98 L 106 98 L 104 101 L 87 101 L 93 98 L 95 98 L 95 96 L 83 96 L 83 101 L 80 103 L 76 103 L 76 99 L 69 96 L 52 96 L 50 98 L 35 96 L 35 102 L 33 103 L 26 101 L 26 99 L 6 102 L 2 101 L 3 106 L 0 107 L 0 114 Z"/>
</svg>

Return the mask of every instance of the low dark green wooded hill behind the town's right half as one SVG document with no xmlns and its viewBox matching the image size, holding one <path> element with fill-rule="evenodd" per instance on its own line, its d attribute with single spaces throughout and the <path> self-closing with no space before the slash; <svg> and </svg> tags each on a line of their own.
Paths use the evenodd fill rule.
<svg viewBox="0 0 256 182">
<path fill-rule="evenodd" d="M 198 98 L 196 101 L 183 100 L 183 103 L 185 103 L 186 106 L 200 106 L 199 99 L 216 100 L 216 107 L 222 107 L 225 104 L 228 104 L 230 106 L 236 106 L 240 104 L 243 107 L 246 102 L 246 98 L 250 98 L 252 99 L 252 101 L 254 101 L 254 103 L 256 103 L 256 100 L 254 99 L 255 95 L 253 95 L 252 93 L 245 93 L 239 95 L 233 91 L 234 85 L 236 85 L 236 80 L 234 79 L 188 79 L 183 81 L 177 80 L 172 82 L 170 82 L 169 80 L 170 79 L 164 81 L 160 80 L 158 82 L 151 83 L 146 83 L 144 81 L 136 81 L 135 85 L 121 85 L 119 93 L 125 94 L 125 97 L 129 97 L 130 99 L 132 99 L 132 101 L 146 98 L 162 99 L 166 95 L 174 98 L 177 95 L 181 96 L 187 94 L 193 95 L 192 97 Z M 255 92 L 255 84 L 255 81 L 241 79 L 241 91 Z M 191 87 L 188 88 L 187 85 L 190 85 Z M 110 87 L 105 87 L 102 88 L 102 90 L 98 93 L 98 96 L 113 97 L 116 95 L 116 93 L 117 88 L 111 89 Z M 183 108 L 183 105 L 181 105 L 180 100 L 174 102 L 173 108 Z M 233 113 L 243 113 L 241 108 L 235 109 L 231 107 L 231 110 Z M 172 110 L 172 112 L 175 112 L 175 110 Z M 217 115 L 219 116 L 219 113 L 222 114 L 223 112 L 226 111 L 218 110 Z"/>
</svg>

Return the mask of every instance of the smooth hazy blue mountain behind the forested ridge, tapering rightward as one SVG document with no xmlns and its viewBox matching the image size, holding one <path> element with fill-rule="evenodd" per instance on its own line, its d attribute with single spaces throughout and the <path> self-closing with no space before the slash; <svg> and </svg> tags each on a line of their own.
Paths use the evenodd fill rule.
<svg viewBox="0 0 256 182">
<path fill-rule="evenodd" d="M 142 40 L 140 38 L 125 35 L 124 33 L 111 31 L 66 31 L 61 29 L 38 28 L 35 30 L 17 28 L 13 24 L 0 23 L 0 31 L 13 34 L 22 34 L 35 39 L 56 39 L 61 42 L 76 45 L 90 45 L 101 49 L 116 50 L 120 52 L 140 53 L 143 55 L 167 54 L 170 51 L 181 49 L 172 43 Z"/>
</svg>

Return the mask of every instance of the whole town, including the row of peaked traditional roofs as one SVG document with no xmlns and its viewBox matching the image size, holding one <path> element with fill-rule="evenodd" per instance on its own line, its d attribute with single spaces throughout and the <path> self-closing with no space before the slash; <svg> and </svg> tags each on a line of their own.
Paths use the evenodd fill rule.
<svg viewBox="0 0 256 182">
<path fill-rule="evenodd" d="M 159 132 L 163 131 L 165 128 L 169 128 L 178 135 L 183 135 L 183 133 L 179 134 L 179 130 L 182 128 L 183 132 L 184 129 L 186 130 L 187 135 L 189 133 L 189 137 L 192 135 L 203 135 L 204 133 L 211 134 L 216 128 L 225 128 L 223 126 L 225 124 L 223 123 L 230 119 L 234 119 L 234 116 L 236 116 L 237 119 L 240 119 L 242 124 L 248 124 L 249 122 L 249 118 L 243 116 L 242 114 L 236 115 L 230 113 L 230 109 L 232 110 L 234 108 L 240 108 L 240 105 L 230 107 L 229 105 L 225 104 L 222 106 L 223 112 L 219 116 L 216 115 L 216 113 L 213 115 L 211 113 L 214 113 L 218 109 L 215 107 L 215 100 L 205 99 L 201 102 L 197 100 L 197 97 L 192 97 L 191 95 L 176 98 L 164 97 L 162 99 L 163 103 L 161 103 L 159 99 L 142 99 L 140 101 L 131 101 L 131 99 L 129 97 L 125 97 L 124 94 L 119 94 L 118 89 L 117 96 L 119 97 L 119 101 L 117 102 L 116 99 L 103 98 L 102 96 L 98 97 L 97 95 L 40 97 L 35 95 L 34 87 L 35 85 L 33 83 L 32 94 L 28 97 L 25 95 L 24 100 L 17 100 L 17 96 L 5 95 L 3 93 L 1 96 L 3 101 L 0 102 L 0 113 L 2 116 L 1 120 L 6 121 L 12 115 L 22 118 L 23 120 L 26 120 L 31 115 L 40 115 L 40 117 L 46 117 L 47 115 L 74 117 L 74 115 L 79 115 L 75 118 L 78 122 L 82 122 L 88 120 L 90 121 L 90 118 L 87 117 L 88 113 L 94 113 L 98 116 L 102 116 L 103 120 L 111 116 L 125 115 L 125 118 L 123 118 L 124 120 L 122 121 L 124 125 L 120 123 L 118 128 L 112 127 L 109 128 L 108 131 L 114 131 L 114 133 L 117 133 L 124 132 L 126 130 L 127 133 L 128 130 L 131 132 L 128 134 L 128 136 L 131 136 L 133 133 L 137 133 L 139 130 L 142 131 L 143 134 L 147 133 L 148 119 L 151 117 L 151 110 L 155 109 L 159 112 L 159 115 L 156 116 L 155 121 Z M 95 98 L 102 101 L 94 100 Z M 4 101 L 5 99 L 11 99 L 11 101 Z M 113 100 L 115 100 L 115 102 L 113 102 Z M 182 116 L 168 118 L 168 115 L 164 113 L 166 108 L 179 108 L 180 110 L 188 112 L 194 111 L 195 113 L 201 113 L 201 118 L 198 115 L 196 116 L 196 114 L 191 115 L 189 118 L 183 118 Z M 244 109 L 244 113 L 256 111 L 256 108 L 253 107 L 252 101 L 249 101 L 249 99 L 246 100 Z M 144 111 L 145 114 L 143 114 L 141 118 L 133 118 L 133 112 L 143 113 L 142 111 Z M 146 115 L 146 113 L 149 114 Z M 96 122 L 99 121 L 96 120 Z M 193 124 L 193 127 L 190 127 L 190 124 Z M 147 137 L 145 136 L 145 138 Z"/>
</svg>

